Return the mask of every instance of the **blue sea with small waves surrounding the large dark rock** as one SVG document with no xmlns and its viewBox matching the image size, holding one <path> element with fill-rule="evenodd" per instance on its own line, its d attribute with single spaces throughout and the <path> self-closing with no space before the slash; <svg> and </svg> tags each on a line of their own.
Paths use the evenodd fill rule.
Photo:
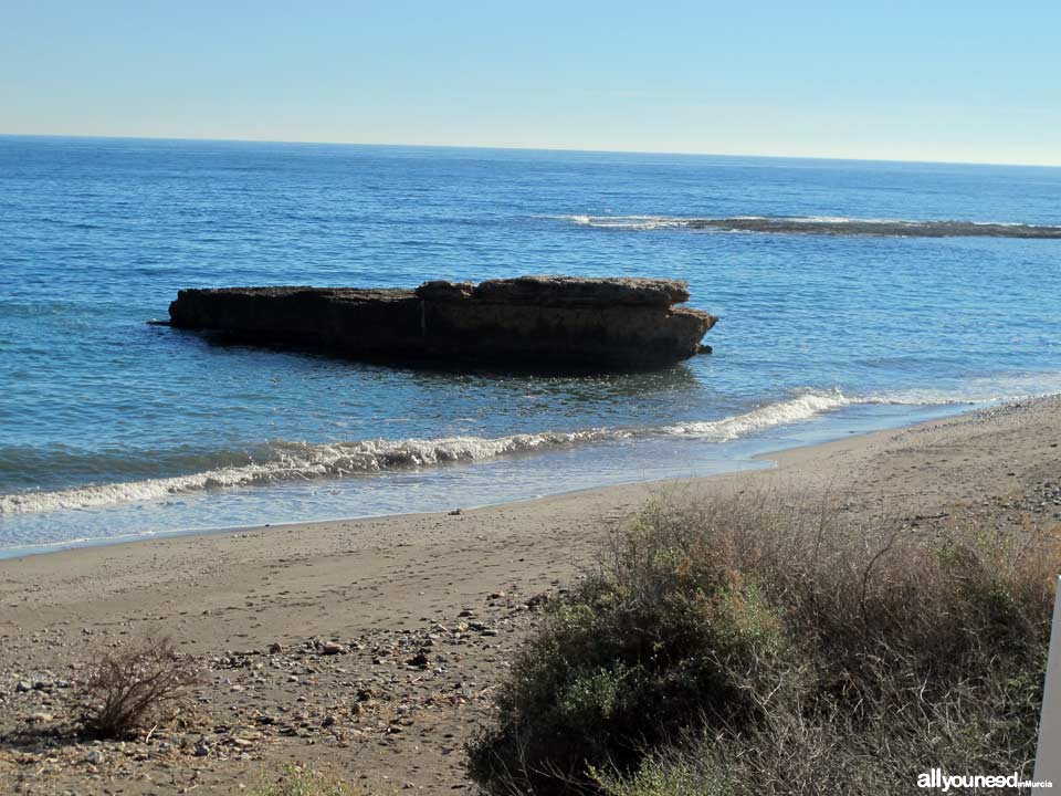
<svg viewBox="0 0 1061 796">
<path fill-rule="evenodd" d="M 685 221 L 734 217 L 803 229 Z M 1061 240 L 821 219 L 1061 226 L 1061 169 L 0 137 L 0 555 L 716 472 L 1061 389 Z M 180 287 L 525 273 L 685 279 L 714 354 L 458 375 L 145 323 Z"/>
</svg>

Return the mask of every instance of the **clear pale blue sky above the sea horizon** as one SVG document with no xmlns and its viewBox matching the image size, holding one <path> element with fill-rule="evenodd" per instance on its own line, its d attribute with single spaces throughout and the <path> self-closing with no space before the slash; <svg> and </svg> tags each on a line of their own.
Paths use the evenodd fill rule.
<svg viewBox="0 0 1061 796">
<path fill-rule="evenodd" d="M 0 0 L 0 133 L 1061 165 L 1061 1 Z"/>
</svg>

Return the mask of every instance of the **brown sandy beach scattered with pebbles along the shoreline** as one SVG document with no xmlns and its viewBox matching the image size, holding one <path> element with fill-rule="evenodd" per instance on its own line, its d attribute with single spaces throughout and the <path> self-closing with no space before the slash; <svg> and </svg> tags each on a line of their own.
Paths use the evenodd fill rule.
<svg viewBox="0 0 1061 796">
<path fill-rule="evenodd" d="M 929 532 L 1061 526 L 1059 443 L 1051 397 L 790 450 L 768 470 L 0 562 L 0 792 L 237 793 L 311 761 L 374 793 L 470 793 L 462 745 L 536 596 L 645 500 L 794 490 Z M 125 744 L 42 734 L 85 661 L 147 633 L 206 663 L 185 726 Z"/>
</svg>

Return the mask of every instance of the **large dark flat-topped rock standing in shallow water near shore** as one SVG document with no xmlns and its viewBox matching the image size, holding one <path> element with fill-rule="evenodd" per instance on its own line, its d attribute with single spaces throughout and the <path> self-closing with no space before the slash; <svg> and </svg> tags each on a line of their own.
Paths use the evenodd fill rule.
<svg viewBox="0 0 1061 796">
<path fill-rule="evenodd" d="M 414 291 L 354 287 L 182 290 L 179 328 L 294 344 L 376 362 L 639 370 L 702 350 L 717 318 L 675 306 L 676 280 L 519 276 L 426 282 Z"/>
</svg>

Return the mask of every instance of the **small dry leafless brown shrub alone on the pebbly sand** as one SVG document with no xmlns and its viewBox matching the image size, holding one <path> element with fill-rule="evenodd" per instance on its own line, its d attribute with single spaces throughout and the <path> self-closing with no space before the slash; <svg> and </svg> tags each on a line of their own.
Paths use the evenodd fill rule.
<svg viewBox="0 0 1061 796">
<path fill-rule="evenodd" d="M 146 638 L 104 654 L 84 682 L 82 724 L 99 739 L 122 739 L 171 719 L 198 679 L 193 661 L 169 638 Z"/>
</svg>

